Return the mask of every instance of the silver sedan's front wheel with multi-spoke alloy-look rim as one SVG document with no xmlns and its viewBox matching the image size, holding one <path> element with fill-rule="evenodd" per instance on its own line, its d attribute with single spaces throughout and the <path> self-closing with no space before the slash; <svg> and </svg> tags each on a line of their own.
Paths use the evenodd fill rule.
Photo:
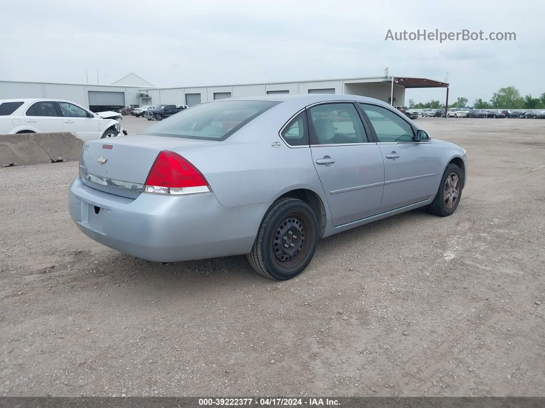
<svg viewBox="0 0 545 408">
<path fill-rule="evenodd" d="M 462 170 L 450 163 L 443 173 L 435 198 L 427 206 L 428 211 L 440 217 L 446 217 L 455 212 L 462 198 L 462 183 Z"/>
</svg>

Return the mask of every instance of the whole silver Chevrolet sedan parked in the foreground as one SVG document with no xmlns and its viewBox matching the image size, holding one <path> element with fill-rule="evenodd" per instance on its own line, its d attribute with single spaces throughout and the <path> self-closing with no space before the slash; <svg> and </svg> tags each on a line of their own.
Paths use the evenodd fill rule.
<svg viewBox="0 0 545 408">
<path fill-rule="evenodd" d="M 85 143 L 69 209 L 84 234 L 138 258 L 247 254 L 262 275 L 289 279 L 319 238 L 421 206 L 451 215 L 466 179 L 463 148 L 387 103 L 266 95 Z"/>
</svg>

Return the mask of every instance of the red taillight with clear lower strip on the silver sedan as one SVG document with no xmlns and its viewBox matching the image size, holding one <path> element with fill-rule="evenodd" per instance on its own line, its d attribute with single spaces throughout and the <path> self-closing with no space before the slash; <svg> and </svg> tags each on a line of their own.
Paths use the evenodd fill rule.
<svg viewBox="0 0 545 408">
<path fill-rule="evenodd" d="M 201 172 L 179 154 L 162 150 L 149 170 L 144 193 L 195 194 L 210 192 Z"/>
</svg>

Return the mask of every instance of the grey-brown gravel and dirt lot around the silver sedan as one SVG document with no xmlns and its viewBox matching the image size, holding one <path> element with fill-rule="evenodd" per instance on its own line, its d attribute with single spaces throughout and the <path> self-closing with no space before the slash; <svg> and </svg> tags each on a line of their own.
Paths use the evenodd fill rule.
<svg viewBox="0 0 545 408">
<path fill-rule="evenodd" d="M 75 162 L 0 169 L 0 395 L 545 395 L 545 120 L 417 123 L 469 152 L 457 212 L 322 240 L 283 283 L 88 239 Z"/>
</svg>

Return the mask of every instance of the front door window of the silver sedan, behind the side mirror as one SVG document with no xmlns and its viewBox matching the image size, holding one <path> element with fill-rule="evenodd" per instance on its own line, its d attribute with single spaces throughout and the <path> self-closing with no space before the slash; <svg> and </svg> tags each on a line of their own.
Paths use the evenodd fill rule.
<svg viewBox="0 0 545 408">
<path fill-rule="evenodd" d="M 371 121 L 379 142 L 413 142 L 413 127 L 390 109 L 360 103 Z"/>
</svg>

